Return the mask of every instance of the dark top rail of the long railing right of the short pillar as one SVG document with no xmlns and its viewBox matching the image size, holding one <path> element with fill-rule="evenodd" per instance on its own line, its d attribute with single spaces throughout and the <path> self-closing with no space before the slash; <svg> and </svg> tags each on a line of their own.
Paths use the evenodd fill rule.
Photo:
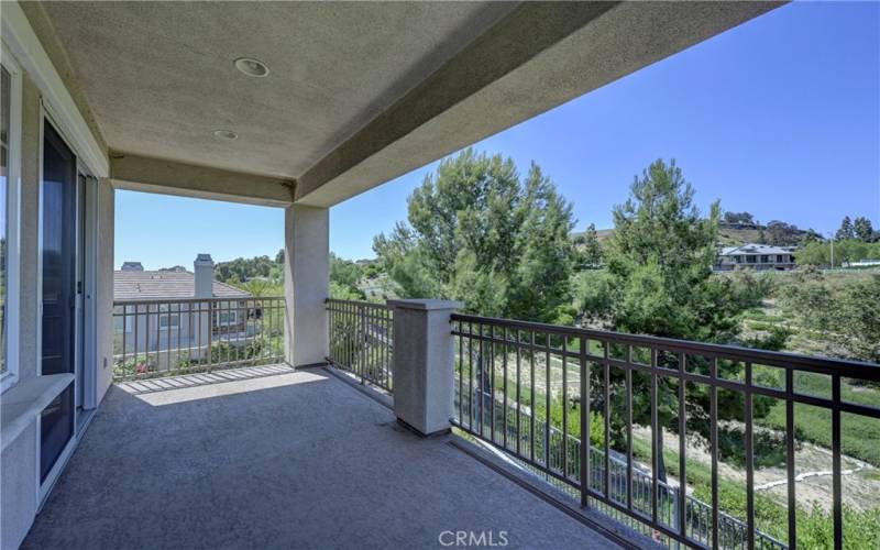
<svg viewBox="0 0 880 550">
<path fill-rule="evenodd" d="M 476 322 L 482 324 L 493 324 L 499 327 L 513 327 L 522 330 L 534 330 L 549 332 L 559 336 L 585 337 L 603 342 L 620 342 L 632 345 L 649 348 L 660 348 L 668 351 L 694 353 L 718 359 L 733 359 L 750 363 L 759 363 L 769 366 L 790 369 L 796 371 L 807 371 L 821 374 L 836 374 L 850 378 L 880 381 L 880 365 L 865 363 L 860 361 L 849 361 L 832 358 L 811 358 L 796 353 L 752 350 L 738 345 L 712 344 L 703 342 L 692 342 L 689 340 L 676 340 L 673 338 L 649 337 L 644 334 L 627 334 L 625 332 L 614 332 L 610 330 L 584 329 L 580 327 L 563 327 L 560 324 L 548 324 L 542 322 L 518 321 L 514 319 L 498 319 L 494 317 L 480 317 L 466 314 L 453 314 L 453 321 Z M 587 355 L 591 359 L 602 359 L 595 355 Z"/>
</svg>

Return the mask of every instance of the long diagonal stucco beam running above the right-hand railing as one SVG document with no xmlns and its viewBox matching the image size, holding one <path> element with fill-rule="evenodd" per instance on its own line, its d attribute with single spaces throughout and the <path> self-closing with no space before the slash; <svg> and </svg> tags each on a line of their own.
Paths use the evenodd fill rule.
<svg viewBox="0 0 880 550">
<path fill-rule="evenodd" d="M 297 178 L 329 207 L 782 2 L 525 2 Z"/>
</svg>

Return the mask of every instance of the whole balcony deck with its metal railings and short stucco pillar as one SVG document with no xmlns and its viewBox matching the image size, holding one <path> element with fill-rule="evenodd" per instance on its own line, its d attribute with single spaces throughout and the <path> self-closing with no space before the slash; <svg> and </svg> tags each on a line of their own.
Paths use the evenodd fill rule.
<svg viewBox="0 0 880 550">
<path fill-rule="evenodd" d="M 846 476 L 871 466 L 844 453 L 842 430 L 880 409 L 842 387 L 880 381 L 877 365 L 460 315 L 438 300 L 326 307 L 326 366 L 255 356 L 122 373 L 23 547 L 422 548 L 464 531 L 503 532 L 514 548 L 785 549 L 801 536 L 801 492 L 823 491 L 811 476 L 827 480 L 828 537 L 842 544 L 856 527 L 845 495 L 865 487 Z M 685 398 L 698 392 L 705 464 Z M 761 399 L 782 404 L 788 424 L 769 466 Z M 825 472 L 802 462 L 804 405 L 831 418 Z M 736 433 L 745 509 L 729 502 L 721 440 Z M 773 472 L 781 481 L 766 483 Z M 781 525 L 767 524 L 768 507 Z"/>
</svg>

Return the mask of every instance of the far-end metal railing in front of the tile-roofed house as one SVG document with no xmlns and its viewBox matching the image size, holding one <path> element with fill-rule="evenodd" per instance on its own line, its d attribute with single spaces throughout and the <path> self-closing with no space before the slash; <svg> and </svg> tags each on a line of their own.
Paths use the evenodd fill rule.
<svg viewBox="0 0 880 550">
<path fill-rule="evenodd" d="M 282 297 L 116 301 L 113 380 L 284 361 Z"/>
</svg>

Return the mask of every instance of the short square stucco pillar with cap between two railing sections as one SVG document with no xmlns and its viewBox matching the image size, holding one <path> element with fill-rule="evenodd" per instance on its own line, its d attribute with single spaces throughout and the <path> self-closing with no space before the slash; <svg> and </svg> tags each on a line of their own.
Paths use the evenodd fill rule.
<svg viewBox="0 0 880 550">
<path fill-rule="evenodd" d="M 394 308 L 394 413 L 422 436 L 449 431 L 454 350 L 449 300 L 389 300 Z"/>
</svg>

